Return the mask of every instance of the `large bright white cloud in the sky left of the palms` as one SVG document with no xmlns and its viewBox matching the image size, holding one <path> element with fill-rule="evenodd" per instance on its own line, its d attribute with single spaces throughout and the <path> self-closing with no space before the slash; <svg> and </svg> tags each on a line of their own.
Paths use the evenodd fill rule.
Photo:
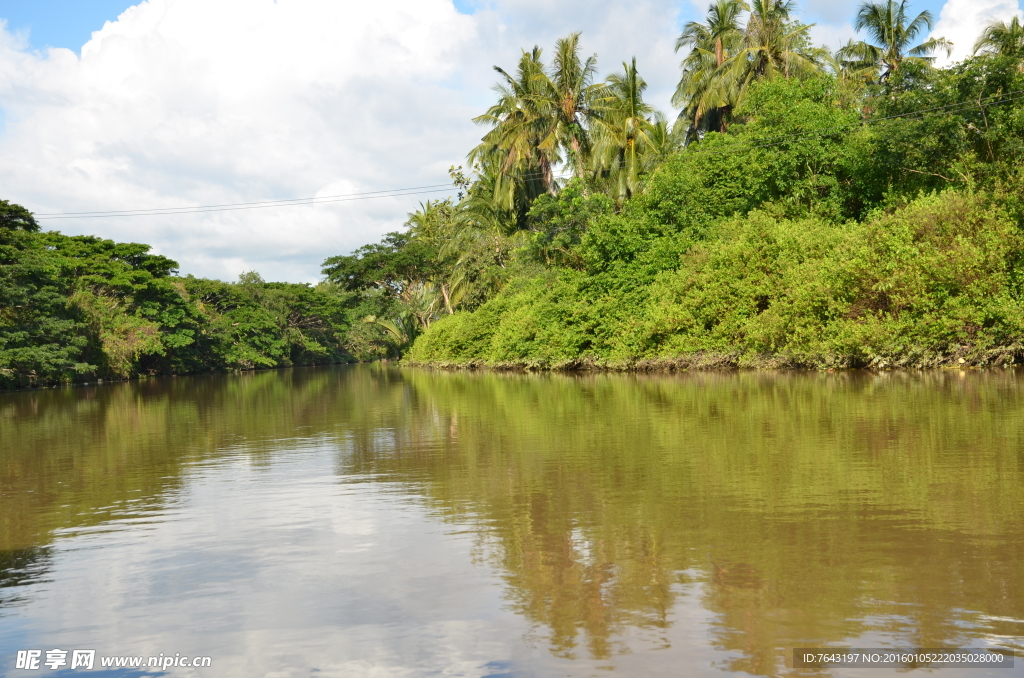
<svg viewBox="0 0 1024 678">
<path fill-rule="evenodd" d="M 449 82 L 475 31 L 445 0 L 147 0 L 81 56 L 0 32 L 3 197 L 45 213 L 437 183 L 478 136 Z M 414 201 L 47 225 L 153 243 L 191 272 L 309 280 Z"/>
</svg>

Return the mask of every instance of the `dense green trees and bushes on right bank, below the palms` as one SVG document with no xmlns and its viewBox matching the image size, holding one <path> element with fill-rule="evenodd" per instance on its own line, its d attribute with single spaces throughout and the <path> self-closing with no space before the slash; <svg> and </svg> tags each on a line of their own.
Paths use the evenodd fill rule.
<svg viewBox="0 0 1024 678">
<path fill-rule="evenodd" d="M 441 314 L 434 365 L 993 365 L 1024 355 L 1016 57 L 749 87 L 726 133 L 616 208 L 532 203 L 503 286 Z M 1009 95 L 1008 95 L 1009 93 Z M 415 236 L 415 235 L 414 235 Z"/>
</svg>

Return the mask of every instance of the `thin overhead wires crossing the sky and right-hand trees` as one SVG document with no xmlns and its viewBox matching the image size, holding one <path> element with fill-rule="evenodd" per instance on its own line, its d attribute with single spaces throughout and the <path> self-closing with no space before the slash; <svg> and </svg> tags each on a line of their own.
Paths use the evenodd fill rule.
<svg viewBox="0 0 1024 678">
<path fill-rule="evenodd" d="M 1021 98 L 1024 98 L 1024 89 L 1012 90 L 1000 94 L 992 94 L 987 97 L 980 97 L 978 99 L 973 99 L 970 101 L 955 101 L 953 103 L 932 107 L 929 109 L 919 109 L 916 111 L 908 111 L 906 113 L 886 116 L 884 118 L 876 118 L 873 120 L 861 120 L 856 123 L 852 123 L 849 125 L 838 125 L 836 127 L 830 127 L 825 130 L 812 130 L 806 132 L 794 132 L 792 134 L 780 134 L 777 136 L 768 137 L 767 139 L 764 139 L 759 142 L 740 141 L 738 143 L 727 144 L 725 147 L 722 149 L 700 149 L 698 146 L 696 149 L 689 151 L 689 153 L 722 155 L 722 154 L 736 153 L 748 149 L 764 149 L 773 145 L 778 145 L 780 143 L 784 143 L 786 140 L 795 138 L 808 137 L 808 136 L 827 136 L 829 134 L 836 134 L 844 130 L 853 129 L 856 127 L 863 127 L 867 125 L 877 125 L 879 123 L 901 118 L 922 120 L 925 117 L 927 117 L 928 114 L 958 113 L 961 111 L 973 109 L 974 107 L 985 108 L 990 105 L 998 105 L 1000 103 L 1007 103 L 1009 101 L 1015 101 Z M 524 177 L 541 176 L 542 174 L 543 173 L 541 172 L 530 172 L 524 174 L 523 176 Z M 570 176 L 570 174 L 561 173 L 553 175 L 553 178 L 566 178 L 567 176 Z M 270 200 L 270 201 L 262 201 L 255 203 L 227 203 L 223 205 L 198 205 L 193 207 L 161 207 L 161 208 L 136 209 L 136 210 L 105 210 L 96 212 L 53 212 L 45 214 L 36 214 L 34 216 L 37 219 L 53 220 L 53 219 L 108 218 L 108 217 L 122 217 L 122 216 L 156 216 L 162 214 L 201 214 L 204 212 L 228 212 L 236 210 L 264 209 L 268 207 L 293 207 L 298 205 L 321 205 L 325 203 L 347 203 L 358 200 L 374 200 L 378 198 L 400 198 L 404 196 L 422 196 L 427 194 L 440 193 L 443 190 L 451 190 L 453 189 L 453 187 L 454 186 L 451 183 L 434 183 L 426 186 L 390 188 L 387 190 L 371 190 L 367 193 L 341 194 L 337 196 L 321 196 L 314 198 Z"/>
</svg>

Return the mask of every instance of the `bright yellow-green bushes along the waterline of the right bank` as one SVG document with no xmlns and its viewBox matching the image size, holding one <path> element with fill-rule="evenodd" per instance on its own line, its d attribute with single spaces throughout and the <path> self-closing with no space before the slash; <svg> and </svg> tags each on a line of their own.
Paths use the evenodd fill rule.
<svg viewBox="0 0 1024 678">
<path fill-rule="evenodd" d="M 929 196 L 863 222 L 765 212 L 720 223 L 624 290 L 562 271 L 431 327 L 414 363 L 557 367 L 935 366 L 1021 351 L 1024 240 L 990 201 Z M 601 285 L 600 283 L 605 283 Z"/>
</svg>

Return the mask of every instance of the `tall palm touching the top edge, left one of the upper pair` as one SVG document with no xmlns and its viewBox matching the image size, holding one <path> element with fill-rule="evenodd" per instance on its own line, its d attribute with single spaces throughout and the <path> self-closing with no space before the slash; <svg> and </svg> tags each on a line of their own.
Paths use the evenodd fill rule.
<svg viewBox="0 0 1024 678">
<path fill-rule="evenodd" d="M 724 132 L 726 117 L 736 103 L 737 89 L 721 77 L 722 66 L 742 46 L 739 16 L 750 7 L 743 0 L 717 0 L 708 7 L 707 24 L 689 22 L 676 40 L 676 51 L 689 47 L 683 75 L 672 102 L 682 109 L 680 117 L 697 129 L 715 127 Z"/>
</svg>

